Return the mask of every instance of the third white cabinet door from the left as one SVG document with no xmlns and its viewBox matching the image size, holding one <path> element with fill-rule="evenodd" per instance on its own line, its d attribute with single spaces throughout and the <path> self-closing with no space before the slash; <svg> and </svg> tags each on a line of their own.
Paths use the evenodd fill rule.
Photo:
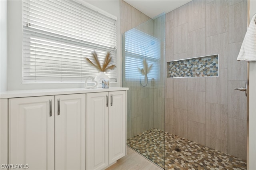
<svg viewBox="0 0 256 170">
<path fill-rule="evenodd" d="M 86 170 L 108 166 L 108 92 L 86 94 Z"/>
</svg>

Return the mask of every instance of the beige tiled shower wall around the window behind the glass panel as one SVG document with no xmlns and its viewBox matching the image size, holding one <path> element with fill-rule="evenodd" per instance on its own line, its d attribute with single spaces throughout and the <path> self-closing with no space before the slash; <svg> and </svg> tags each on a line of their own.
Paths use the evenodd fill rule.
<svg viewBox="0 0 256 170">
<path fill-rule="evenodd" d="M 156 38 L 162 36 L 162 33 L 158 35 L 159 33 L 154 32 L 154 29 L 157 29 L 155 27 L 161 23 L 164 24 L 164 20 L 152 21 L 124 1 L 120 1 L 120 12 L 121 34 L 136 27 Z M 164 53 L 164 48 L 162 52 Z M 162 59 L 164 60 L 164 57 Z M 123 76 L 122 86 L 129 87 L 127 91 L 127 138 L 153 127 L 164 130 L 164 83 L 160 83 L 164 82 L 164 67 L 161 71 L 162 81 L 149 80 L 147 87 L 142 87 L 140 81 L 126 81 Z"/>
</svg>

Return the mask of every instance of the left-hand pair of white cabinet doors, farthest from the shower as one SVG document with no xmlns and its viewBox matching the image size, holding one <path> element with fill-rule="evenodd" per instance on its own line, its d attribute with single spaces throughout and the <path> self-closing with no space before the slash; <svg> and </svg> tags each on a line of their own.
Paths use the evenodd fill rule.
<svg viewBox="0 0 256 170">
<path fill-rule="evenodd" d="M 85 169 L 85 94 L 8 100 L 8 164 Z"/>
</svg>

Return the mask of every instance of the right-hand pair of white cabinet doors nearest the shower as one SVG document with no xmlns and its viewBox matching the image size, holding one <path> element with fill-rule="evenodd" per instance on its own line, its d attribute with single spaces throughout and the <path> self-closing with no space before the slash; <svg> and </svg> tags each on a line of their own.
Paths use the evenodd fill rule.
<svg viewBox="0 0 256 170">
<path fill-rule="evenodd" d="M 86 94 L 86 169 L 104 169 L 125 154 L 126 91 Z"/>
</svg>

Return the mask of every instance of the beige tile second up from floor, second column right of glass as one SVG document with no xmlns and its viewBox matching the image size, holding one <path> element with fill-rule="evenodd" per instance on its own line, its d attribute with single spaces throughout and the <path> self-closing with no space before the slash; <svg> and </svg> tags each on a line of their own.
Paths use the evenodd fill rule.
<svg viewBox="0 0 256 170">
<path fill-rule="evenodd" d="M 174 81 L 174 108 L 188 109 L 188 82 Z"/>
</svg>

